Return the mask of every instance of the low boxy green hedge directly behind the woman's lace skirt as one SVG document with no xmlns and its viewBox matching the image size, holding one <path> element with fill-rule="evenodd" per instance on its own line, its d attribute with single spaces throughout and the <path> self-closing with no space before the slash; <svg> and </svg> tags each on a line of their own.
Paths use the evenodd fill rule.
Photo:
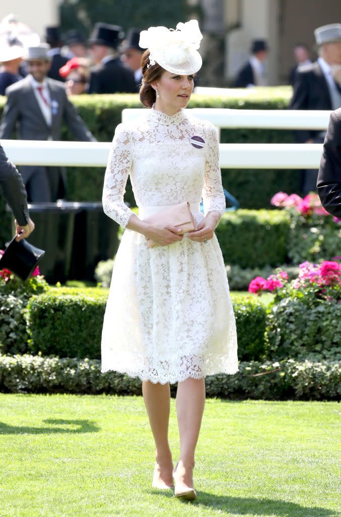
<svg viewBox="0 0 341 517">
<path fill-rule="evenodd" d="M 27 323 L 33 354 L 100 358 L 107 290 L 54 288 L 30 298 Z M 240 359 L 265 355 L 266 310 L 256 298 L 232 296 Z"/>
</svg>

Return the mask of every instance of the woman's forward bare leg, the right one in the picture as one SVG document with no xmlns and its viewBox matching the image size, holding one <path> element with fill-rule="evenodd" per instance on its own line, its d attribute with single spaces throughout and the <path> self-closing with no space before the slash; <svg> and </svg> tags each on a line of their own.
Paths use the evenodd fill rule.
<svg viewBox="0 0 341 517">
<path fill-rule="evenodd" d="M 180 434 L 177 490 L 193 488 L 194 453 L 205 407 L 205 379 L 188 378 L 178 384 L 176 407 Z"/>
</svg>

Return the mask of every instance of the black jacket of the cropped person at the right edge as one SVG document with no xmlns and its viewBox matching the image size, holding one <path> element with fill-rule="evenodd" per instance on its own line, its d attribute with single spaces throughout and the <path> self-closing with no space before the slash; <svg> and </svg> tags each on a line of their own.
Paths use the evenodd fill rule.
<svg viewBox="0 0 341 517">
<path fill-rule="evenodd" d="M 341 219 L 341 108 L 332 112 L 317 177 L 324 208 Z"/>
</svg>

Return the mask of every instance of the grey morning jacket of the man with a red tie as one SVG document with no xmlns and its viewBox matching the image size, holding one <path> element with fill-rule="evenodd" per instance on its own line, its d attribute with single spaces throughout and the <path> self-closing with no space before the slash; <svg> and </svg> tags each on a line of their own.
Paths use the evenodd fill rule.
<svg viewBox="0 0 341 517">
<path fill-rule="evenodd" d="M 50 92 L 52 125 L 48 126 L 40 110 L 29 77 L 9 86 L 6 90 L 7 102 L 0 123 L 0 139 L 11 139 L 14 129 L 17 129 L 20 140 L 60 140 L 63 122 L 72 132 L 75 140 L 94 142 L 94 135 L 88 130 L 84 121 L 77 114 L 73 104 L 68 100 L 64 84 L 53 79 L 46 79 Z M 25 166 L 26 172 L 36 166 Z M 59 197 L 64 197 L 66 188 L 64 169 L 57 168 L 58 182 L 61 180 Z M 54 176 L 57 176 L 56 174 Z"/>
</svg>

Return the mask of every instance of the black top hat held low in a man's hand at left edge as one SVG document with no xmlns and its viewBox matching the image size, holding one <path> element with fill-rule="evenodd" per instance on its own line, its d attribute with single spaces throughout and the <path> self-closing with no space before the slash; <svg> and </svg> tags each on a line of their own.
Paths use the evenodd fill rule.
<svg viewBox="0 0 341 517">
<path fill-rule="evenodd" d="M 0 258 L 0 269 L 9 269 L 25 282 L 44 254 L 43 250 L 32 246 L 27 240 L 21 239 L 18 242 L 14 237 L 8 242 L 5 253 Z"/>
</svg>

